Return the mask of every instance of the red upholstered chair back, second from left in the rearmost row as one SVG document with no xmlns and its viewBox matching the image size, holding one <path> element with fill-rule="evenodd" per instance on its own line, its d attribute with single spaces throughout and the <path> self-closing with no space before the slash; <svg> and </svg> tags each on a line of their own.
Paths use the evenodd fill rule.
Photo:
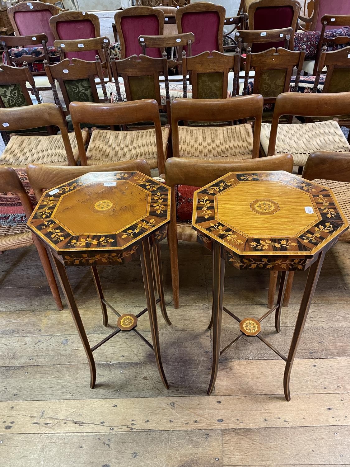
<svg viewBox="0 0 350 467">
<path fill-rule="evenodd" d="M 50 27 L 55 39 L 91 39 L 100 36 L 98 16 L 84 11 L 65 11 L 50 18 Z M 66 58 L 79 58 L 94 62 L 98 50 L 67 52 Z"/>
</svg>

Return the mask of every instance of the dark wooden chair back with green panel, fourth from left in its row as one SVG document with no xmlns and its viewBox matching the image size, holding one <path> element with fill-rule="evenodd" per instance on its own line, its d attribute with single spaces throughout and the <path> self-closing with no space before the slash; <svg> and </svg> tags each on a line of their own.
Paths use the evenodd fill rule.
<svg viewBox="0 0 350 467">
<path fill-rule="evenodd" d="M 240 67 L 239 50 L 235 55 L 225 55 L 216 50 L 194 57 L 182 53 L 183 97 L 187 98 L 187 75 L 191 76 L 192 99 L 225 99 L 228 92 L 229 72 L 233 71 L 231 96 L 237 94 Z"/>
</svg>

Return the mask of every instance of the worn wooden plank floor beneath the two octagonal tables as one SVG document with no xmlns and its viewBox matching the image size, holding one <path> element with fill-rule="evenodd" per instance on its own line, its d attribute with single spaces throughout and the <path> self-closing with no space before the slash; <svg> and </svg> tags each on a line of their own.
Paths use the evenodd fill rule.
<svg viewBox="0 0 350 467">
<path fill-rule="evenodd" d="M 168 327 L 159 312 L 163 363 L 133 333 L 99 348 L 97 384 L 66 305 L 57 311 L 34 248 L 0 257 L 1 467 L 350 466 L 350 245 L 326 257 L 283 397 L 284 362 L 258 339 L 223 355 L 210 379 L 211 256 L 180 242 L 181 307 L 172 306 L 168 246 L 162 243 Z M 122 312 L 145 306 L 139 262 L 99 268 L 106 298 Z M 88 268 L 69 276 L 91 343 L 102 325 Z M 297 273 L 280 334 L 263 334 L 287 353 L 305 273 Z M 266 310 L 268 272 L 226 268 L 224 303 L 240 317 Z M 159 310 L 158 310 L 159 311 Z M 138 329 L 150 338 L 147 315 Z M 222 346 L 238 335 L 225 315 Z"/>
</svg>

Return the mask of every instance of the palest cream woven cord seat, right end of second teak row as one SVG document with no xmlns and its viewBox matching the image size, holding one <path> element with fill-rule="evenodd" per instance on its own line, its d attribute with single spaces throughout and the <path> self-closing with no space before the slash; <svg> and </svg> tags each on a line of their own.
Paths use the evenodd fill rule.
<svg viewBox="0 0 350 467">
<path fill-rule="evenodd" d="M 267 154 L 271 125 L 261 124 L 260 143 Z M 327 120 L 296 125 L 279 125 L 277 129 L 275 154 L 290 153 L 294 165 L 303 167 L 308 156 L 318 151 L 350 152 L 338 123 Z"/>
</svg>

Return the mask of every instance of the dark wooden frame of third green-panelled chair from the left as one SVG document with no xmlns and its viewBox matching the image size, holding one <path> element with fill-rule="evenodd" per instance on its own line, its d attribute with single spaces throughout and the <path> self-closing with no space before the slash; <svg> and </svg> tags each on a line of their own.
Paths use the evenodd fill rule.
<svg viewBox="0 0 350 467">
<path fill-rule="evenodd" d="M 155 100 L 158 103 L 159 109 L 166 111 L 168 115 L 168 122 L 170 123 L 170 94 L 169 94 L 169 77 L 168 77 L 168 60 L 166 52 L 163 52 L 162 58 L 147 57 L 146 55 L 132 55 L 124 60 L 111 60 L 112 75 L 115 82 L 117 91 L 118 102 L 122 102 L 120 94 L 120 85 L 118 77 L 121 76 L 124 80 L 124 89 L 126 100 L 133 100 L 132 91 L 129 85 L 129 78 L 137 76 L 153 76 Z M 160 91 L 160 73 L 164 76 L 166 104 L 161 104 L 161 91 Z"/>
</svg>

